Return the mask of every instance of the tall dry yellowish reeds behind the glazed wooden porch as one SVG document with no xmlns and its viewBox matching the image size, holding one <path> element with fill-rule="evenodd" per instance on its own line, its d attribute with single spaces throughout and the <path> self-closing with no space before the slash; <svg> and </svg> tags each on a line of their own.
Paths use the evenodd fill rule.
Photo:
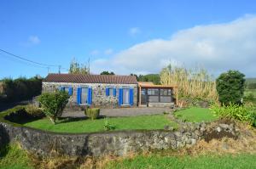
<svg viewBox="0 0 256 169">
<path fill-rule="evenodd" d="M 179 98 L 218 99 L 215 79 L 202 67 L 168 65 L 160 72 L 160 82 L 177 86 Z"/>
</svg>

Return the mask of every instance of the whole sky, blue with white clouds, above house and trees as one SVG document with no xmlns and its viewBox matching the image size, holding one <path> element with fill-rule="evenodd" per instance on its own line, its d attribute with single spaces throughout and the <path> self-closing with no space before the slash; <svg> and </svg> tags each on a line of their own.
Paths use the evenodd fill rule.
<svg viewBox="0 0 256 169">
<path fill-rule="evenodd" d="M 95 74 L 157 73 L 171 60 L 255 76 L 255 14 L 253 0 L 1 0 L 0 48 L 64 68 L 90 57 Z M 0 61 L 0 78 L 47 75 L 1 52 Z"/>
</svg>

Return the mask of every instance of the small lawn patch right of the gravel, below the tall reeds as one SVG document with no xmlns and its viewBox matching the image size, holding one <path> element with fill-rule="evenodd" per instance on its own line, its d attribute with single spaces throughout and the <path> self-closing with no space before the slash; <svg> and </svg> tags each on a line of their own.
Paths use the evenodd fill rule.
<svg viewBox="0 0 256 169">
<path fill-rule="evenodd" d="M 179 110 L 175 112 L 175 115 L 179 119 L 190 122 L 214 121 L 218 119 L 217 116 L 212 114 L 211 110 L 199 107 Z"/>
</svg>

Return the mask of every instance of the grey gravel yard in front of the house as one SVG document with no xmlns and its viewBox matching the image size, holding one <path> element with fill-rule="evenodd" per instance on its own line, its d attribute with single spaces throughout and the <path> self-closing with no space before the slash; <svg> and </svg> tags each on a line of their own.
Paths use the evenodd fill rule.
<svg viewBox="0 0 256 169">
<path fill-rule="evenodd" d="M 137 116 L 137 115 L 160 115 L 163 112 L 172 112 L 169 108 L 121 108 L 121 109 L 101 109 L 100 115 L 108 117 L 117 116 Z M 84 117 L 84 111 L 63 112 L 63 117 Z"/>
</svg>

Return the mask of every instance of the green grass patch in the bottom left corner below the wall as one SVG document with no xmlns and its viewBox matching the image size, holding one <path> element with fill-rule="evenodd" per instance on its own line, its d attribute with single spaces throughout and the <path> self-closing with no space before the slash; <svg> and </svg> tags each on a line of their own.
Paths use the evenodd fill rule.
<svg viewBox="0 0 256 169">
<path fill-rule="evenodd" d="M 19 144 L 10 144 L 0 150 L 1 169 L 31 169 L 31 161 Z"/>
</svg>

